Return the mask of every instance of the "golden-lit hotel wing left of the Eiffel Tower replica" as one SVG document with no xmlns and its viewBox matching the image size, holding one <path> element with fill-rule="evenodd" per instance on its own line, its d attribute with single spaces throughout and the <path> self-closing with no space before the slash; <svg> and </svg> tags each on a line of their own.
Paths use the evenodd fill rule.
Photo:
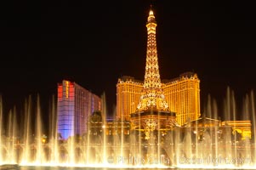
<svg viewBox="0 0 256 170">
<path fill-rule="evenodd" d="M 117 120 L 129 121 L 136 111 L 143 82 L 134 77 L 121 77 L 117 82 Z"/>
</svg>

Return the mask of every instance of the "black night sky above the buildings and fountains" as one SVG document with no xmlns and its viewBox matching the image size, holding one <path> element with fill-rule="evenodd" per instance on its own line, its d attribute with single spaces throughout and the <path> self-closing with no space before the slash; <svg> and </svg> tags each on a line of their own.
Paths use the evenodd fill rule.
<svg viewBox="0 0 256 170">
<path fill-rule="evenodd" d="M 221 107 L 230 86 L 241 105 L 256 87 L 256 14 L 251 2 L 152 2 L 161 78 L 195 71 L 201 80 L 202 111 L 208 94 Z M 94 94 L 105 92 L 111 114 L 118 77 L 144 79 L 150 4 L 17 0 L 0 5 L 4 111 L 22 105 L 29 94 L 40 94 L 42 105 L 48 105 L 57 83 L 66 79 Z"/>
</svg>

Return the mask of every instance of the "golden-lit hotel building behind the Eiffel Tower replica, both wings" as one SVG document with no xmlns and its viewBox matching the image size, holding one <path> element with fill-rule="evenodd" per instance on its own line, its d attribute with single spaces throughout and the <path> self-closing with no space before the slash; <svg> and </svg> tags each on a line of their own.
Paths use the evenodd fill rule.
<svg viewBox="0 0 256 170">
<path fill-rule="evenodd" d="M 200 80 L 196 73 L 185 72 L 178 78 L 162 80 L 162 88 L 170 111 L 176 113 L 176 122 L 184 125 L 200 117 Z M 121 77 L 117 82 L 117 119 L 130 120 L 136 111 L 143 82 L 134 77 Z"/>
</svg>

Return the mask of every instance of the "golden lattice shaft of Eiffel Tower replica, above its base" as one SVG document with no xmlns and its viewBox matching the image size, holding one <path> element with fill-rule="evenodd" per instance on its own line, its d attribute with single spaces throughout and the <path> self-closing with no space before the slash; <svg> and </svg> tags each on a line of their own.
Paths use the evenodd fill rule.
<svg viewBox="0 0 256 170">
<path fill-rule="evenodd" d="M 168 111 L 168 104 L 165 101 L 162 83 L 159 74 L 159 66 L 156 50 L 156 18 L 152 7 L 147 18 L 147 49 L 145 64 L 145 79 L 143 93 L 137 106 L 138 111 L 159 110 Z"/>
</svg>

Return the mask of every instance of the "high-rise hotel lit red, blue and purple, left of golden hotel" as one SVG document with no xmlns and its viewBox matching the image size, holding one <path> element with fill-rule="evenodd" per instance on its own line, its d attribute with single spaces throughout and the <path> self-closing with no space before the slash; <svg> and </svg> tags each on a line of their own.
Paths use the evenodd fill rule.
<svg viewBox="0 0 256 170">
<path fill-rule="evenodd" d="M 76 82 L 58 83 L 58 133 L 62 139 L 87 132 L 88 116 L 100 111 L 101 99 Z"/>
</svg>

